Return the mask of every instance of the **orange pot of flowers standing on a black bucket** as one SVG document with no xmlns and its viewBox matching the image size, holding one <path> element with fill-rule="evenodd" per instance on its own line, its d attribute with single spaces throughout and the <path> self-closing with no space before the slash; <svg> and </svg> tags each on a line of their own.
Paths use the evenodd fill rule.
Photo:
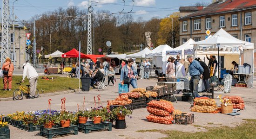
<svg viewBox="0 0 256 139">
<path fill-rule="evenodd" d="M 125 120 L 125 116 L 129 116 L 132 113 L 133 111 L 127 109 L 127 107 L 116 107 L 111 111 L 111 114 L 116 120 Z"/>
</svg>

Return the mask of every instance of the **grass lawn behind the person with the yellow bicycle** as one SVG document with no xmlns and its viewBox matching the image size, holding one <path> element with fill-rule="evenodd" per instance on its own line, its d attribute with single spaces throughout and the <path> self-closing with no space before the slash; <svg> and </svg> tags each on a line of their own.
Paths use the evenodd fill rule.
<svg viewBox="0 0 256 139">
<path fill-rule="evenodd" d="M 54 77 L 53 80 L 44 80 L 41 79 L 42 76 L 39 76 L 37 82 L 37 88 L 39 89 L 39 93 L 42 94 L 41 89 L 44 91 L 43 93 L 52 93 L 52 92 L 60 92 L 65 90 L 73 90 L 79 88 L 79 81 L 76 78 L 67 78 L 67 77 L 59 77 L 59 76 L 47 76 L 49 78 Z M 22 76 L 13 76 L 12 82 L 12 90 L 4 91 L 3 86 L 0 88 L 0 98 L 5 97 L 13 97 L 13 91 L 19 88 L 19 85 L 15 84 L 17 82 L 22 81 Z M 21 84 L 21 86 L 29 85 L 28 79 L 25 78 L 25 82 Z"/>
</svg>

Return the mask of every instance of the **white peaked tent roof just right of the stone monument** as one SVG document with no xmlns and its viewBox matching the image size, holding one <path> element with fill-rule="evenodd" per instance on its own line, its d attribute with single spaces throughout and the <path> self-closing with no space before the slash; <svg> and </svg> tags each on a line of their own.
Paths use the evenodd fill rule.
<svg viewBox="0 0 256 139">
<path fill-rule="evenodd" d="M 173 50 L 169 45 L 164 44 L 164 45 L 159 45 L 152 51 L 150 51 L 148 54 L 145 54 L 145 57 L 157 57 L 157 56 L 165 56 L 165 52 Z"/>
</svg>

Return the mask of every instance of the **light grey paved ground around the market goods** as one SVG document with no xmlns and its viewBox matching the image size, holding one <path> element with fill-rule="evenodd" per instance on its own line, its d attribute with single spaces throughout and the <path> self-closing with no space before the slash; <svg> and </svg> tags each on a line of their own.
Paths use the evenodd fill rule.
<svg viewBox="0 0 256 139">
<path fill-rule="evenodd" d="M 43 70 L 41 70 L 43 71 Z M 22 74 L 21 69 L 15 71 L 16 75 Z M 68 80 L 68 78 L 67 78 Z M 119 79 L 117 79 L 119 82 Z M 147 86 L 155 85 L 157 80 L 138 80 L 138 86 L 145 88 Z M 132 89 L 132 87 L 130 87 Z M 20 101 L 0 101 L 0 113 L 2 114 L 12 114 L 16 111 L 35 111 L 46 109 L 48 106 L 48 99 L 52 99 L 51 108 L 55 110 L 60 110 L 61 108 L 61 98 L 66 97 L 66 107 L 69 111 L 76 111 L 77 104 L 82 105 L 83 97 L 86 99 L 86 107 L 94 107 L 93 97 L 101 95 L 102 106 L 107 105 L 107 100 L 113 100 L 118 95 L 118 87 L 109 86 L 103 91 L 97 91 L 96 89 L 90 90 L 89 92 L 78 92 L 78 93 L 69 93 L 63 95 L 54 95 L 47 97 L 39 97 L 36 99 L 23 99 Z M 229 94 L 224 95 L 238 95 L 242 96 L 245 101 L 245 110 L 240 111 L 240 115 L 229 116 L 225 114 L 204 114 L 204 113 L 195 113 L 197 117 L 197 122 L 193 125 L 201 126 L 236 126 L 243 122 L 243 119 L 255 119 L 256 118 L 256 89 L 255 88 L 235 88 L 232 87 Z M 215 95 L 217 96 L 217 95 Z M 181 95 L 177 96 L 178 103 L 173 101 L 175 109 L 179 109 L 182 112 L 190 112 L 189 102 L 181 101 Z M 215 99 L 219 104 L 219 99 Z M 84 134 L 78 132 L 78 135 L 64 136 L 60 139 L 157 139 L 165 137 L 161 133 L 138 133 L 138 130 L 148 130 L 148 129 L 163 129 L 163 130 L 179 130 L 183 132 L 196 132 L 204 131 L 203 129 L 197 129 L 193 125 L 162 125 L 151 123 L 146 120 L 146 116 L 149 113 L 146 108 L 136 109 L 132 114 L 132 118 L 126 118 L 126 129 L 115 129 L 112 128 L 112 131 L 102 131 L 102 132 L 93 132 Z M 208 123 L 214 123 L 214 125 L 209 125 Z M 114 122 L 115 124 L 115 122 Z M 41 137 L 39 132 L 26 132 L 20 130 L 16 127 L 9 126 L 11 129 L 11 139 L 45 139 Z"/>
</svg>

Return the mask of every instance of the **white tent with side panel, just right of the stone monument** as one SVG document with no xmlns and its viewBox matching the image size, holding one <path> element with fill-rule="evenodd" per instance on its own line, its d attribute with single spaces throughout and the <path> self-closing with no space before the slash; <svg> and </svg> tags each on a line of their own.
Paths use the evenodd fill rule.
<svg viewBox="0 0 256 139">
<path fill-rule="evenodd" d="M 156 67 L 162 67 L 162 72 L 165 74 L 165 65 L 166 65 L 166 51 L 173 50 L 169 45 L 159 45 L 148 54 L 145 54 L 145 57 L 153 57 L 152 62 Z M 162 63 L 160 62 L 162 61 Z"/>
</svg>

